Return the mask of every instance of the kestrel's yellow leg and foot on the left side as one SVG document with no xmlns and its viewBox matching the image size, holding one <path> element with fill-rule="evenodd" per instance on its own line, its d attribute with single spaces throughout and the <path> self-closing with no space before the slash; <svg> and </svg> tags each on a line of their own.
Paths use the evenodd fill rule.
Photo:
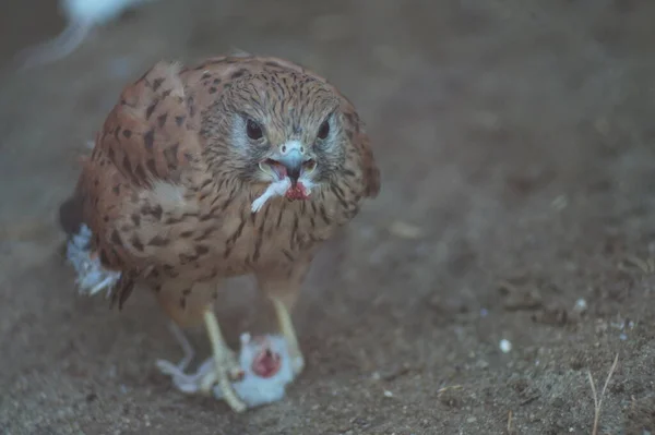
<svg viewBox="0 0 655 435">
<path fill-rule="evenodd" d="M 210 341 L 212 343 L 215 373 L 211 373 L 210 376 L 202 380 L 201 388 L 204 391 L 209 391 L 214 382 L 217 380 L 227 404 L 235 412 L 242 412 L 246 410 L 246 403 L 243 403 L 241 399 L 237 397 L 230 382 L 230 371 L 235 368 L 235 361 L 230 349 L 223 339 L 218 321 L 216 319 L 216 315 L 212 309 L 207 309 L 204 312 L 204 321 L 205 327 L 207 328 L 207 334 L 210 335 Z"/>
</svg>

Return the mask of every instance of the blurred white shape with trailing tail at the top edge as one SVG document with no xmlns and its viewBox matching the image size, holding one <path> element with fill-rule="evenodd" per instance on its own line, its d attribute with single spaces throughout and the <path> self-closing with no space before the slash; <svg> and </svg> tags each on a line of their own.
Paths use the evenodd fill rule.
<svg viewBox="0 0 655 435">
<path fill-rule="evenodd" d="M 154 0 L 60 0 L 59 8 L 67 19 L 67 27 L 55 38 L 21 52 L 21 67 L 27 69 L 64 58 L 82 44 L 94 27 L 146 1 Z"/>
</svg>

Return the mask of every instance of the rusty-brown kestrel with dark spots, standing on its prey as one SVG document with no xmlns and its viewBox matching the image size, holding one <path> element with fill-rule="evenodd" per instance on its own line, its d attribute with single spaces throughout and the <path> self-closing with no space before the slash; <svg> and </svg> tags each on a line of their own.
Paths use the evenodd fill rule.
<svg viewBox="0 0 655 435">
<path fill-rule="evenodd" d="M 240 367 L 214 314 L 219 281 L 255 276 L 300 373 L 289 312 L 302 280 L 379 190 L 364 123 L 335 86 L 287 60 L 239 55 L 160 62 L 128 85 L 60 214 L 70 234 L 88 227 L 108 273 L 87 290 L 110 287 L 120 309 L 139 285 L 176 324 L 204 322 L 212 379 L 240 412 L 230 385 Z"/>
</svg>

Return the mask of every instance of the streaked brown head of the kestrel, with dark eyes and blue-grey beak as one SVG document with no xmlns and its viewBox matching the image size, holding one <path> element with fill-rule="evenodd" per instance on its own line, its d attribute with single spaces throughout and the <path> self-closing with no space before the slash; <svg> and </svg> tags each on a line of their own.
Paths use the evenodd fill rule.
<svg viewBox="0 0 655 435">
<path fill-rule="evenodd" d="M 348 171 L 354 148 L 345 102 L 326 83 L 297 71 L 246 73 L 203 117 L 210 166 L 217 177 L 257 189 L 288 178 L 285 196 L 306 200 Z"/>
</svg>

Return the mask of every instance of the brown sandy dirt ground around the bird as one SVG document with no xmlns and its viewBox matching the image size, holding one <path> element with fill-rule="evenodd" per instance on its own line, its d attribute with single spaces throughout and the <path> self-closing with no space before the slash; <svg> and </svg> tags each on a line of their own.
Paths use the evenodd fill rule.
<svg viewBox="0 0 655 435">
<path fill-rule="evenodd" d="M 53 3 L 0 7 L 0 433 L 591 434 L 617 354 L 597 433 L 655 433 L 655 3 L 159 0 L 16 73 Z M 230 47 L 330 77 L 383 174 L 294 313 L 307 370 L 241 415 L 157 372 L 147 291 L 76 294 L 57 225 L 121 87 Z M 272 327 L 250 279 L 221 301 Z"/>
</svg>

